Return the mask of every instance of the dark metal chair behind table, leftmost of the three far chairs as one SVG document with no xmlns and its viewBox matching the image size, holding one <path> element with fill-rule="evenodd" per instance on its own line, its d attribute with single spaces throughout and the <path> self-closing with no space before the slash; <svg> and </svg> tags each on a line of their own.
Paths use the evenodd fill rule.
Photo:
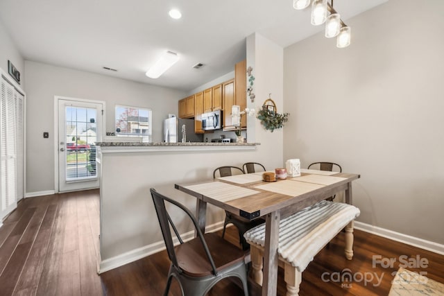
<svg viewBox="0 0 444 296">
<path fill-rule="evenodd" d="M 213 178 L 216 178 L 217 173 L 219 173 L 219 177 L 228 177 L 232 175 L 244 174 L 244 170 L 238 168 L 237 166 L 220 166 L 213 171 Z M 222 238 L 223 236 L 225 236 L 225 229 L 230 223 L 236 226 L 237 231 L 239 232 L 239 242 L 241 243 L 242 250 L 248 250 L 250 248 L 250 244 L 247 243 L 247 241 L 245 240 L 244 233 L 257 225 L 264 223 L 264 221 L 260 219 L 248 220 L 246 218 L 242 218 L 241 216 L 231 214 L 229 211 L 225 211 L 225 221 L 223 222 Z"/>
</svg>

